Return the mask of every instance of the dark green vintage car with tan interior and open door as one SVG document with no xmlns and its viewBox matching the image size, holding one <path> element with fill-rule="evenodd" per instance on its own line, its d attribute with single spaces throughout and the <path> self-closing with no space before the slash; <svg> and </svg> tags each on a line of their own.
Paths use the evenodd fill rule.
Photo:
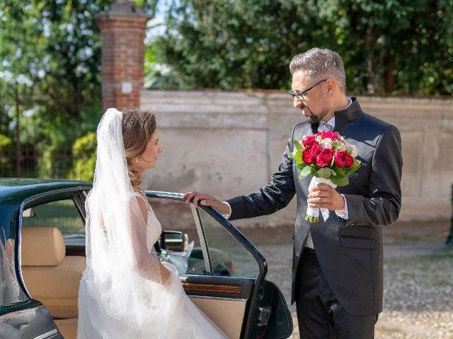
<svg viewBox="0 0 453 339">
<path fill-rule="evenodd" d="M 0 338 L 76 338 L 89 182 L 0 179 Z M 265 258 L 216 210 L 146 192 L 154 248 L 190 299 L 232 339 L 288 338 L 292 318 Z"/>
</svg>

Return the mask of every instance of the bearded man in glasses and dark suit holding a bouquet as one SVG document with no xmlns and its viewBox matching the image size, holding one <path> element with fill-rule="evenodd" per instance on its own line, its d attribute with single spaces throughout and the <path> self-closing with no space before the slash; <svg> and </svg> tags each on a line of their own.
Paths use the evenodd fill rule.
<svg viewBox="0 0 453 339">
<path fill-rule="evenodd" d="M 398 218 L 401 208 L 401 137 L 395 126 L 362 111 L 345 95 L 343 60 L 329 49 L 310 49 L 289 64 L 294 108 L 306 121 L 292 130 L 272 181 L 248 196 L 226 202 L 190 192 L 230 220 L 274 213 L 294 194 L 297 215 L 292 260 L 292 303 L 296 302 L 301 338 L 370 339 L 382 311 L 382 227 Z M 333 129 L 357 147 L 360 169 L 350 184 L 326 184 L 309 191 L 310 177 L 299 180 L 289 158 L 293 141 Z M 309 223 L 307 206 L 327 208 L 329 218 Z"/>
</svg>

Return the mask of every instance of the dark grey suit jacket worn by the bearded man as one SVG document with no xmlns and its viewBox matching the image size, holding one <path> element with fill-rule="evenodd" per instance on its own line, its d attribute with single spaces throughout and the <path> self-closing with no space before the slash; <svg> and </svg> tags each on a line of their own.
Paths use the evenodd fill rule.
<svg viewBox="0 0 453 339">
<path fill-rule="evenodd" d="M 227 201 L 230 219 L 274 213 L 296 194 L 292 302 L 295 273 L 311 230 L 321 269 L 340 304 L 353 316 L 378 314 L 383 295 L 382 226 L 396 221 L 401 208 L 401 136 L 395 126 L 362 112 L 355 97 L 350 107 L 335 113 L 335 119 L 334 131 L 357 147 L 357 159 L 362 162 L 350 174 L 350 184 L 337 187 L 348 203 L 348 220 L 341 220 L 334 211 L 326 222 L 321 215 L 314 224 L 304 219 L 311 177 L 299 180 L 299 169 L 288 155 L 294 139 L 311 134 L 308 122 L 294 126 L 280 167 L 267 186 Z"/>
</svg>

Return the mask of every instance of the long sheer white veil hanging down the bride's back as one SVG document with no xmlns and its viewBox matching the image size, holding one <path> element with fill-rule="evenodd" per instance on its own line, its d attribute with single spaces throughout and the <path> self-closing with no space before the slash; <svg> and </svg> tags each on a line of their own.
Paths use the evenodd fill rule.
<svg viewBox="0 0 453 339">
<path fill-rule="evenodd" d="M 112 331 L 119 323 L 155 323 L 163 286 L 159 261 L 147 251 L 147 217 L 137 200 L 143 198 L 128 176 L 122 112 L 105 112 L 97 140 L 93 189 L 86 200 L 86 296 L 79 296 L 79 308 L 93 326 Z"/>
</svg>

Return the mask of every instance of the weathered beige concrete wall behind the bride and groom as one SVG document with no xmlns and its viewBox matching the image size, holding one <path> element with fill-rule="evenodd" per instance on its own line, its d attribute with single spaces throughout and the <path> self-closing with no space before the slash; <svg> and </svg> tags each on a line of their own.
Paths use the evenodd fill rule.
<svg viewBox="0 0 453 339">
<path fill-rule="evenodd" d="M 359 97 L 365 112 L 389 121 L 403 139 L 400 220 L 440 220 L 452 214 L 453 100 Z M 267 184 L 292 126 L 302 117 L 282 91 L 143 90 L 154 107 L 164 153 L 144 182 L 160 191 L 206 191 L 220 199 Z M 242 222 L 294 222 L 294 201 L 272 216 Z"/>
</svg>

